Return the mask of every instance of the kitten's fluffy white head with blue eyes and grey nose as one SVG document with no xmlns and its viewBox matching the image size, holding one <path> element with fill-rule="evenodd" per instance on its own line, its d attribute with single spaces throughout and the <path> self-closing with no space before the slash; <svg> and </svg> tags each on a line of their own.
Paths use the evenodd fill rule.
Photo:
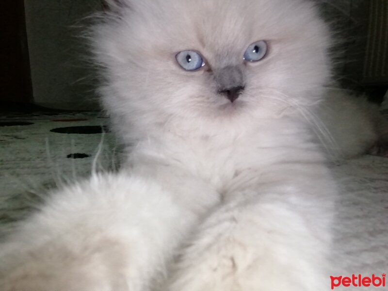
<svg viewBox="0 0 388 291">
<path fill-rule="evenodd" d="M 106 1 L 94 51 L 120 135 L 279 118 L 329 79 L 329 33 L 311 1 Z"/>
</svg>

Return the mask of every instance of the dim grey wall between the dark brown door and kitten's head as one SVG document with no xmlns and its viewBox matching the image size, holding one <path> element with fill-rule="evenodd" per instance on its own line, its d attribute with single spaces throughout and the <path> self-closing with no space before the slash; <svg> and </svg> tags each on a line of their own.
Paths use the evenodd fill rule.
<svg viewBox="0 0 388 291">
<path fill-rule="evenodd" d="M 90 74 L 82 64 L 75 27 L 96 11 L 99 0 L 25 0 L 35 103 L 52 108 L 96 109 Z"/>
</svg>

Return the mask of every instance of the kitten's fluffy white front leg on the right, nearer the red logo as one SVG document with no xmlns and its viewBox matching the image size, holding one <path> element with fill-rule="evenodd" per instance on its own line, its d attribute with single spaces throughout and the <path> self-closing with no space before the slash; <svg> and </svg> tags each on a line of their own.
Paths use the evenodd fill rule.
<svg viewBox="0 0 388 291">
<path fill-rule="evenodd" d="M 164 290 L 328 290 L 331 211 L 294 194 L 241 197 L 212 214 Z"/>
</svg>

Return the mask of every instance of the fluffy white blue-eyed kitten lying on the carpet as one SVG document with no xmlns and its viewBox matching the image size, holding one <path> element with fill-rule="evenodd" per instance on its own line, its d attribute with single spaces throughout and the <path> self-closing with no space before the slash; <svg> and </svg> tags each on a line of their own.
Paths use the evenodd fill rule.
<svg viewBox="0 0 388 291">
<path fill-rule="evenodd" d="M 93 47 L 128 163 L 20 224 L 1 245 L 0 289 L 328 290 L 337 190 L 314 131 L 351 155 L 380 133 L 365 114 L 337 139 L 330 33 L 313 4 L 107 4 Z M 346 122 L 359 111 L 331 99 Z"/>
</svg>

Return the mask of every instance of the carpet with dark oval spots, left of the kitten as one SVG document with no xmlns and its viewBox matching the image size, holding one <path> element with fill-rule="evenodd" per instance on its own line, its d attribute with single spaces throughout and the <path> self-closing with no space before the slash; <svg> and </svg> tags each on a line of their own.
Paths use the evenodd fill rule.
<svg viewBox="0 0 388 291">
<path fill-rule="evenodd" d="M 2 113 L 0 225 L 28 214 L 48 189 L 88 176 L 97 152 L 97 168 L 112 168 L 115 139 L 106 124 L 97 112 Z"/>
</svg>

